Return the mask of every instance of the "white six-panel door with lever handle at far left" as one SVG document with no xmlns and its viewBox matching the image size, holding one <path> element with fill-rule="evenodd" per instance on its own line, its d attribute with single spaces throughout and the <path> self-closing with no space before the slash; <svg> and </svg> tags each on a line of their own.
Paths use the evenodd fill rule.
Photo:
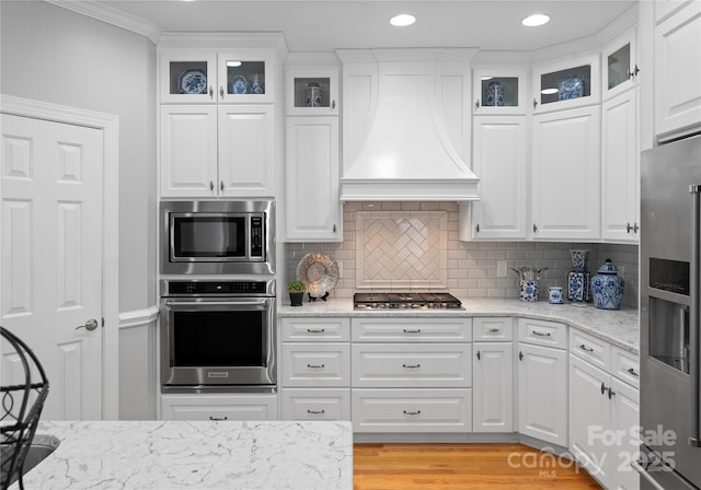
<svg viewBox="0 0 701 490">
<path fill-rule="evenodd" d="M 1 154 L 2 325 L 46 371 L 45 419 L 99 420 L 102 130 L 3 115 Z M 3 346 L 3 385 L 13 359 Z"/>
</svg>

